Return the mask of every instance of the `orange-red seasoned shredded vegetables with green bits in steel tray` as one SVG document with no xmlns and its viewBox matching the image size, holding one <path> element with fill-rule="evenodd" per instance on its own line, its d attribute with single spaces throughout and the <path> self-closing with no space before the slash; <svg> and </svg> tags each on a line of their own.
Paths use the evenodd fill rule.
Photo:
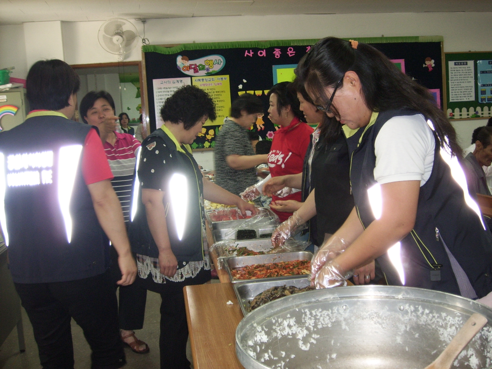
<svg viewBox="0 0 492 369">
<path fill-rule="evenodd" d="M 247 265 L 246 267 L 232 270 L 231 273 L 234 279 L 257 279 L 310 274 L 310 270 L 310 260 L 292 260 L 270 264 Z"/>
</svg>

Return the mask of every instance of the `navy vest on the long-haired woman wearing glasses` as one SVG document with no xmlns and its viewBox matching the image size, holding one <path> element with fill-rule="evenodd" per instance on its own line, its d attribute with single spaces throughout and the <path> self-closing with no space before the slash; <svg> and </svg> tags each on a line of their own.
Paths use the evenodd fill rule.
<svg viewBox="0 0 492 369">
<path fill-rule="evenodd" d="M 404 110 L 379 113 L 375 123 L 363 134 L 358 147 L 354 143 L 358 143 L 361 134 L 348 140 L 352 149 L 352 191 L 358 215 L 365 228 L 374 220 L 369 205 L 368 189 L 376 184 L 376 136 L 389 119 L 415 114 L 420 113 Z M 364 128 L 359 131 L 364 131 Z M 451 176 L 449 165 L 441 157 L 439 140 L 435 134 L 434 137 L 435 152 L 431 177 L 420 187 L 414 229 L 401 240 L 405 285 L 460 294 L 450 260 L 442 244 L 444 241 L 481 298 L 492 290 L 492 236 L 489 230 L 484 230 L 478 215 L 466 205 L 463 191 Z M 401 285 L 400 277 L 388 254 L 380 256 L 378 261 L 388 283 Z"/>
</svg>

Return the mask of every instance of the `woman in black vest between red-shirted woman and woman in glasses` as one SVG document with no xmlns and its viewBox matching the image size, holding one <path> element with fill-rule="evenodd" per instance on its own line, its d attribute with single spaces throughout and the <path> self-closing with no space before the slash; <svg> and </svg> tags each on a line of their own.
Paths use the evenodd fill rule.
<svg viewBox="0 0 492 369">
<path fill-rule="evenodd" d="M 285 186 L 302 189 L 303 202 L 276 202 L 277 210 L 294 214 L 273 233 L 274 246 L 282 246 L 308 220 L 309 240 L 319 246 L 325 237 L 330 237 L 338 230 L 354 207 L 350 192 L 350 160 L 342 125 L 313 105 L 303 84 L 296 80 L 294 85 L 307 123 L 319 124 L 311 134 L 303 172 L 273 177 L 264 184 L 263 193 L 272 196 Z M 360 281 L 355 278 L 354 281 L 356 284 L 369 283 L 364 278 Z"/>
</svg>

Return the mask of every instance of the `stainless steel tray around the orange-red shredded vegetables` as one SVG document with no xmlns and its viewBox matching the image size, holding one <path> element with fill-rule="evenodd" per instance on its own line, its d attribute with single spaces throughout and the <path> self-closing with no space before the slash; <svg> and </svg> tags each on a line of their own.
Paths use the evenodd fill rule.
<svg viewBox="0 0 492 369">
<path fill-rule="evenodd" d="M 229 279 L 232 283 L 243 282 L 245 280 L 274 280 L 274 279 L 289 279 L 293 276 L 286 277 L 271 277 L 271 278 L 256 278 L 256 279 L 234 279 L 232 277 L 232 269 L 246 267 L 246 265 L 254 265 L 254 264 L 269 264 L 269 263 L 278 263 L 280 261 L 292 261 L 292 260 L 311 260 L 312 253 L 308 251 L 300 251 L 300 252 L 283 252 L 278 254 L 264 254 L 264 255 L 255 255 L 255 256 L 231 256 L 224 258 L 225 268 L 227 270 L 227 274 L 229 275 Z M 307 275 L 301 275 L 307 276 Z"/>
</svg>

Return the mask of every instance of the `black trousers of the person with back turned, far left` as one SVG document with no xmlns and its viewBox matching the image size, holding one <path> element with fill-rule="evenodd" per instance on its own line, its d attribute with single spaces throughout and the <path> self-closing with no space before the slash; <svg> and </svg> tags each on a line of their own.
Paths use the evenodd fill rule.
<svg viewBox="0 0 492 369">
<path fill-rule="evenodd" d="M 43 369 L 73 369 L 71 318 L 91 346 L 92 369 L 126 363 L 109 271 L 67 282 L 15 283 L 15 288 L 31 321 Z"/>
</svg>

